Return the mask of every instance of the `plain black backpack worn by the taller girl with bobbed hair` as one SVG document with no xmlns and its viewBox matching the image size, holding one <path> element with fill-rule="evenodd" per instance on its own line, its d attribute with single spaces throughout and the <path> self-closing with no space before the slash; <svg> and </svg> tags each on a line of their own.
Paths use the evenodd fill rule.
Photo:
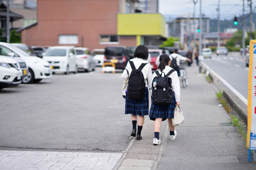
<svg viewBox="0 0 256 170">
<path fill-rule="evenodd" d="M 129 76 L 127 86 L 127 97 L 131 99 L 142 99 L 145 92 L 145 80 L 142 74 L 142 69 L 147 63 L 142 63 L 139 69 L 136 69 L 134 63 L 129 61 L 132 67 L 132 73 Z"/>
</svg>

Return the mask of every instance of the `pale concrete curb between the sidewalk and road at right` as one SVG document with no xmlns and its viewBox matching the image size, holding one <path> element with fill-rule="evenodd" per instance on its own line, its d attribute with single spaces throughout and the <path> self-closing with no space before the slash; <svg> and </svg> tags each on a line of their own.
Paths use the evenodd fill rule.
<svg viewBox="0 0 256 170">
<path fill-rule="evenodd" d="M 219 91 L 223 91 L 223 97 L 233 108 L 235 113 L 238 113 L 240 118 L 247 125 L 247 99 L 243 97 L 238 91 L 233 89 L 230 84 L 223 80 L 218 74 L 208 67 L 204 62 L 202 64 L 203 72 L 210 77 L 211 82 L 216 86 Z"/>
</svg>

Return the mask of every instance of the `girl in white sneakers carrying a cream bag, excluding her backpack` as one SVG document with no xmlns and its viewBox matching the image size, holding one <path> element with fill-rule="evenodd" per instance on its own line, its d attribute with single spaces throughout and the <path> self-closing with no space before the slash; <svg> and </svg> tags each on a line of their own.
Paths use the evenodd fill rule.
<svg viewBox="0 0 256 170">
<path fill-rule="evenodd" d="M 160 56 L 160 64 L 159 69 L 156 72 L 159 72 L 161 75 L 162 72 L 164 74 L 168 74 L 173 68 L 169 67 L 170 65 L 170 58 L 168 55 L 161 55 Z M 153 78 L 156 77 L 156 72 L 153 74 Z M 181 96 L 181 89 L 178 80 L 178 74 L 176 71 L 172 72 L 169 77 L 171 78 L 171 86 L 173 89 L 172 92 L 172 99 L 171 104 L 169 105 L 155 105 L 153 101 L 151 102 L 151 108 L 149 111 L 149 118 L 150 120 L 154 120 L 154 145 L 160 145 L 161 140 L 159 138 L 159 132 L 161 128 L 161 122 L 168 119 L 169 122 L 169 130 L 170 130 L 170 139 L 175 140 L 177 136 L 177 132 L 175 127 L 172 125 L 171 119 L 174 118 L 174 109 L 176 106 L 180 105 L 180 96 Z"/>
</svg>

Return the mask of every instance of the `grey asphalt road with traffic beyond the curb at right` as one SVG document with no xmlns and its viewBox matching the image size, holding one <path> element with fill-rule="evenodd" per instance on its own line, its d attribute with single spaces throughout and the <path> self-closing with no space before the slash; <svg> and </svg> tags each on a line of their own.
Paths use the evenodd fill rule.
<svg viewBox="0 0 256 170">
<path fill-rule="evenodd" d="M 214 54 L 211 59 L 204 59 L 203 62 L 247 98 L 249 69 L 239 52 L 229 52 L 227 56 Z"/>
</svg>

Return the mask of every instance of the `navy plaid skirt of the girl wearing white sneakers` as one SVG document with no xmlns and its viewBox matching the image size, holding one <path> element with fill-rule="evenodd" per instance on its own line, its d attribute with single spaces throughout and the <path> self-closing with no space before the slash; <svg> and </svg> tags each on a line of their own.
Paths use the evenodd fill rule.
<svg viewBox="0 0 256 170">
<path fill-rule="evenodd" d="M 154 105 L 153 101 L 151 102 L 151 108 L 149 111 L 150 120 L 156 120 L 156 118 L 162 118 L 162 121 L 167 118 L 174 118 L 174 109 L 176 107 L 175 96 L 173 95 L 173 100 L 170 105 Z"/>
</svg>

